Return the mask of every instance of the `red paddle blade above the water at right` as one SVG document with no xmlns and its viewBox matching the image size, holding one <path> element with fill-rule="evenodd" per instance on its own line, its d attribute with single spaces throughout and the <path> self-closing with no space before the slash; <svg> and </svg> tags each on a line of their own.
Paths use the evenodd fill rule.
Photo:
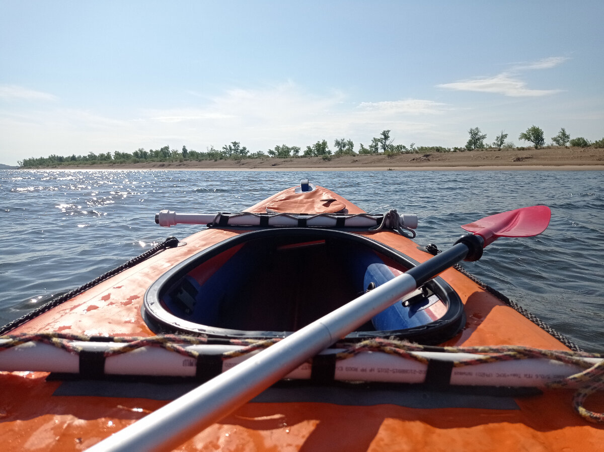
<svg viewBox="0 0 604 452">
<path fill-rule="evenodd" d="M 541 234 L 550 224 L 551 211 L 546 205 L 522 207 L 487 216 L 462 228 L 484 239 L 484 247 L 498 237 L 532 237 Z"/>
</svg>

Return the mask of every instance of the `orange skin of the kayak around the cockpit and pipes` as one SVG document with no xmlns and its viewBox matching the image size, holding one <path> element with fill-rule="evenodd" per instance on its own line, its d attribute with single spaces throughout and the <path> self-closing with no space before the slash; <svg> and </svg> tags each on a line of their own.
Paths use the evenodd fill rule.
<svg viewBox="0 0 604 452">
<path fill-rule="evenodd" d="M 292 213 L 317 213 L 321 199 L 362 210 L 319 187 L 319 199 Z M 289 210 L 284 190 L 249 211 Z M 312 192 L 310 192 L 312 193 Z M 323 203 L 324 204 L 324 203 Z M 308 207 L 308 206 L 311 207 Z M 306 206 L 306 207 L 305 207 Z M 341 210 L 341 208 L 340 208 Z M 257 231 L 261 228 L 254 228 Z M 208 228 L 155 254 L 9 332 L 152 337 L 143 304 L 162 275 L 196 254 L 250 232 Z M 391 230 L 351 231 L 409 259 L 431 257 Z M 568 350 L 487 288 L 449 268 L 440 274 L 463 302 L 465 321 L 446 346 L 519 345 Z M 1 354 L 1 352 L 0 352 Z M 1 355 L 0 355 L 1 356 Z M 198 383 L 170 378 L 64 378 L 48 372 L 0 372 L 0 441 L 4 450 L 85 450 L 143 418 Z M 181 451 L 468 451 L 599 450 L 604 430 L 574 412 L 571 390 L 446 388 L 376 383 L 284 381 L 199 432 Z M 604 406 L 596 394 L 588 408 Z"/>
</svg>

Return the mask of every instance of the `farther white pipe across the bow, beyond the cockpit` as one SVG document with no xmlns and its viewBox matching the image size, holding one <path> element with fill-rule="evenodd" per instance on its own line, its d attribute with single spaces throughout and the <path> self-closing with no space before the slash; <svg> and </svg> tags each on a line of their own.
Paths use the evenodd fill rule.
<svg viewBox="0 0 604 452">
<path fill-rule="evenodd" d="M 231 226 L 259 226 L 260 216 L 249 212 L 242 212 L 247 215 L 240 214 L 223 214 L 228 216 L 228 225 Z M 267 214 L 269 226 L 297 226 L 298 219 L 307 219 L 307 226 L 315 227 L 335 227 L 336 216 L 330 215 L 280 215 Z M 338 215 L 344 218 L 346 227 L 373 227 L 376 226 L 377 218 L 382 218 L 383 215 L 374 216 L 356 216 L 356 215 Z M 399 215 L 399 223 L 411 229 L 417 228 L 417 215 L 413 213 L 402 213 Z M 160 226 L 170 227 L 177 224 L 209 224 L 216 219 L 215 213 L 176 213 L 170 210 L 161 210 L 156 215 L 156 223 Z"/>
</svg>

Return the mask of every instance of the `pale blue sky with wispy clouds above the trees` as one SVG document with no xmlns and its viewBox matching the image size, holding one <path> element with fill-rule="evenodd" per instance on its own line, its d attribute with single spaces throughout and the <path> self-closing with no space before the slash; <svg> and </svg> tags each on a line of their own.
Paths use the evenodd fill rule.
<svg viewBox="0 0 604 452">
<path fill-rule="evenodd" d="M 603 0 L 0 0 L 0 163 L 604 137 Z"/>
</svg>

